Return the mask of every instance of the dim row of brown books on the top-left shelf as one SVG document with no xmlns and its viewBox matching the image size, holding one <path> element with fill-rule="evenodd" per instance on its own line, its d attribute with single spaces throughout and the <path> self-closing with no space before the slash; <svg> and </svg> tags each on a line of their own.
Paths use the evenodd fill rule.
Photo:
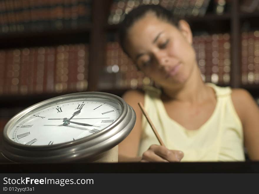
<svg viewBox="0 0 259 194">
<path fill-rule="evenodd" d="M 92 0 L 1 0 L 0 34 L 76 29 L 91 22 Z"/>
</svg>

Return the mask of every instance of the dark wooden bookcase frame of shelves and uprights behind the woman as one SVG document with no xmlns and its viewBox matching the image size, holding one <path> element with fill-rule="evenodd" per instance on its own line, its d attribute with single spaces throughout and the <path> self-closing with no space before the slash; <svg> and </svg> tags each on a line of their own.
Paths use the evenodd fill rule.
<svg viewBox="0 0 259 194">
<path fill-rule="evenodd" d="M 2 0 L 0 3 L 6 2 Z M 11 0 L 12 2 L 18 2 Z M 23 0 L 21 2 L 30 2 L 29 0 Z M 10 49 L 23 49 L 34 47 L 58 47 L 60 45 L 76 45 L 83 44 L 88 47 L 88 67 L 85 71 L 87 77 L 87 88 L 83 91 L 102 91 L 117 94 L 121 96 L 129 87 L 117 87 L 116 84 L 109 87 L 100 87 L 100 80 L 107 76 L 108 80 L 116 79 L 118 74 L 109 74 L 104 72 L 107 64 L 107 37 L 112 34 L 116 40 L 116 34 L 118 30 L 118 24 L 108 24 L 108 18 L 110 14 L 110 7 L 113 4 L 113 0 L 53 0 L 53 4 L 49 7 L 58 9 L 61 3 L 73 4 L 73 6 L 83 6 L 87 3 L 90 14 L 82 17 L 67 17 L 64 20 L 57 19 L 63 24 L 71 24 L 71 22 L 77 22 L 77 27 L 68 27 L 64 25 L 62 29 L 57 26 L 47 28 L 46 30 L 38 29 L 34 31 L 12 31 L 9 33 L 0 33 L 0 50 Z M 255 31 L 259 29 L 258 26 L 258 11 L 252 13 L 243 13 L 240 11 L 240 5 L 242 1 L 226 1 L 227 5 L 225 11 L 221 14 L 215 14 L 215 1 L 210 1 L 208 5 L 207 13 L 205 16 L 186 16 L 185 19 L 190 23 L 193 34 L 199 36 L 200 32 L 206 32 L 208 35 L 212 34 L 225 34 L 230 36 L 230 81 L 228 84 L 233 88 L 241 87 L 247 89 L 255 98 L 259 97 L 258 84 L 243 84 L 241 79 L 241 56 L 242 56 L 242 44 L 241 34 L 243 31 Z M 1 4 L 2 5 L 2 4 Z M 20 4 L 22 6 L 23 4 Z M 34 5 L 35 6 L 35 5 Z M 28 5 L 27 5 L 28 7 Z M 43 6 L 44 7 L 44 6 Z M 45 6 L 44 9 L 47 9 Z M 61 7 L 62 8 L 62 7 Z M 29 9 L 29 8 L 28 8 Z M 64 10 L 69 9 L 69 6 L 63 6 Z M 27 10 L 28 11 L 28 10 Z M 0 10 L 0 14 L 5 13 Z M 65 11 L 63 12 L 65 13 Z M 46 13 L 45 13 L 46 14 Z M 84 16 L 84 17 L 83 17 Z M 42 16 L 44 18 L 44 16 Z M 44 23 L 44 20 L 38 18 L 40 22 Z M 35 18 L 34 18 L 35 20 Z M 0 19 L 1 21 L 1 19 Z M 37 20 L 36 20 L 37 21 Z M 50 20 L 50 24 L 55 20 Z M 70 22 L 70 23 L 69 23 Z M 27 21 L 27 25 L 28 25 Z M 35 25 L 35 21 L 32 21 Z M 48 24 L 49 24 L 48 23 Z M 1 24 L 1 23 L 0 23 Z M 81 25 L 79 25 L 81 24 Z M 2 24 L 1 24 L 2 25 Z M 74 24 L 73 24 L 74 25 Z M 2 25 L 3 26 L 3 25 Z M 2 27 L 1 26 L 1 27 Z M 113 41 L 114 41 L 113 40 Z M 105 80 L 105 79 L 104 79 Z M 114 81 L 116 82 L 116 80 Z M 134 85 L 134 88 L 136 85 Z M 138 88 L 138 87 L 136 87 Z M 14 116 L 17 112 L 24 108 L 33 105 L 42 100 L 46 100 L 51 97 L 70 93 L 71 91 L 59 91 L 59 92 L 42 92 L 42 93 L 28 93 L 28 94 L 1 94 L 0 95 L 0 120 L 3 125 L 4 121 Z M 77 91 L 74 91 L 77 92 Z M 4 121 L 3 121 L 4 120 Z M 3 126 L 1 126 L 3 127 Z"/>
</svg>

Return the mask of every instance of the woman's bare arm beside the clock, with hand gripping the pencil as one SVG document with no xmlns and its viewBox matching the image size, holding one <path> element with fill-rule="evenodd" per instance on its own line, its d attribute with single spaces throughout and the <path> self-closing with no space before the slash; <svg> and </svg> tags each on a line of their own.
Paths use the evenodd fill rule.
<svg viewBox="0 0 259 194">
<path fill-rule="evenodd" d="M 123 99 L 135 110 L 136 124 L 130 134 L 119 143 L 119 162 L 179 162 L 183 152 L 168 150 L 161 145 L 150 145 L 141 157 L 137 157 L 142 132 L 142 112 L 138 102 L 144 104 L 144 94 L 132 90 L 126 92 Z"/>
</svg>

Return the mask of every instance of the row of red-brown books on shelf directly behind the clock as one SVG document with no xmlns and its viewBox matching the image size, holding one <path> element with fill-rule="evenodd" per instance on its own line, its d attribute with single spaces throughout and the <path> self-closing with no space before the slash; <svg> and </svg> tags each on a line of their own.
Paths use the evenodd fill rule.
<svg viewBox="0 0 259 194">
<path fill-rule="evenodd" d="M 0 50 L 0 94 L 85 91 L 88 58 L 85 44 Z"/>
</svg>

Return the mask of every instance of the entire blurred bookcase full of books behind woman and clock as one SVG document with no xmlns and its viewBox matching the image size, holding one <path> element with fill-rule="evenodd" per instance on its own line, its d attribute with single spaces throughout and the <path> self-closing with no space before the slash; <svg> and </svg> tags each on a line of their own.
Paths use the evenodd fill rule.
<svg viewBox="0 0 259 194">
<path fill-rule="evenodd" d="M 140 4 L 189 22 L 205 82 L 245 88 L 259 103 L 259 0 L 0 0 L 0 130 L 51 97 L 152 85 L 117 41 Z"/>
</svg>

